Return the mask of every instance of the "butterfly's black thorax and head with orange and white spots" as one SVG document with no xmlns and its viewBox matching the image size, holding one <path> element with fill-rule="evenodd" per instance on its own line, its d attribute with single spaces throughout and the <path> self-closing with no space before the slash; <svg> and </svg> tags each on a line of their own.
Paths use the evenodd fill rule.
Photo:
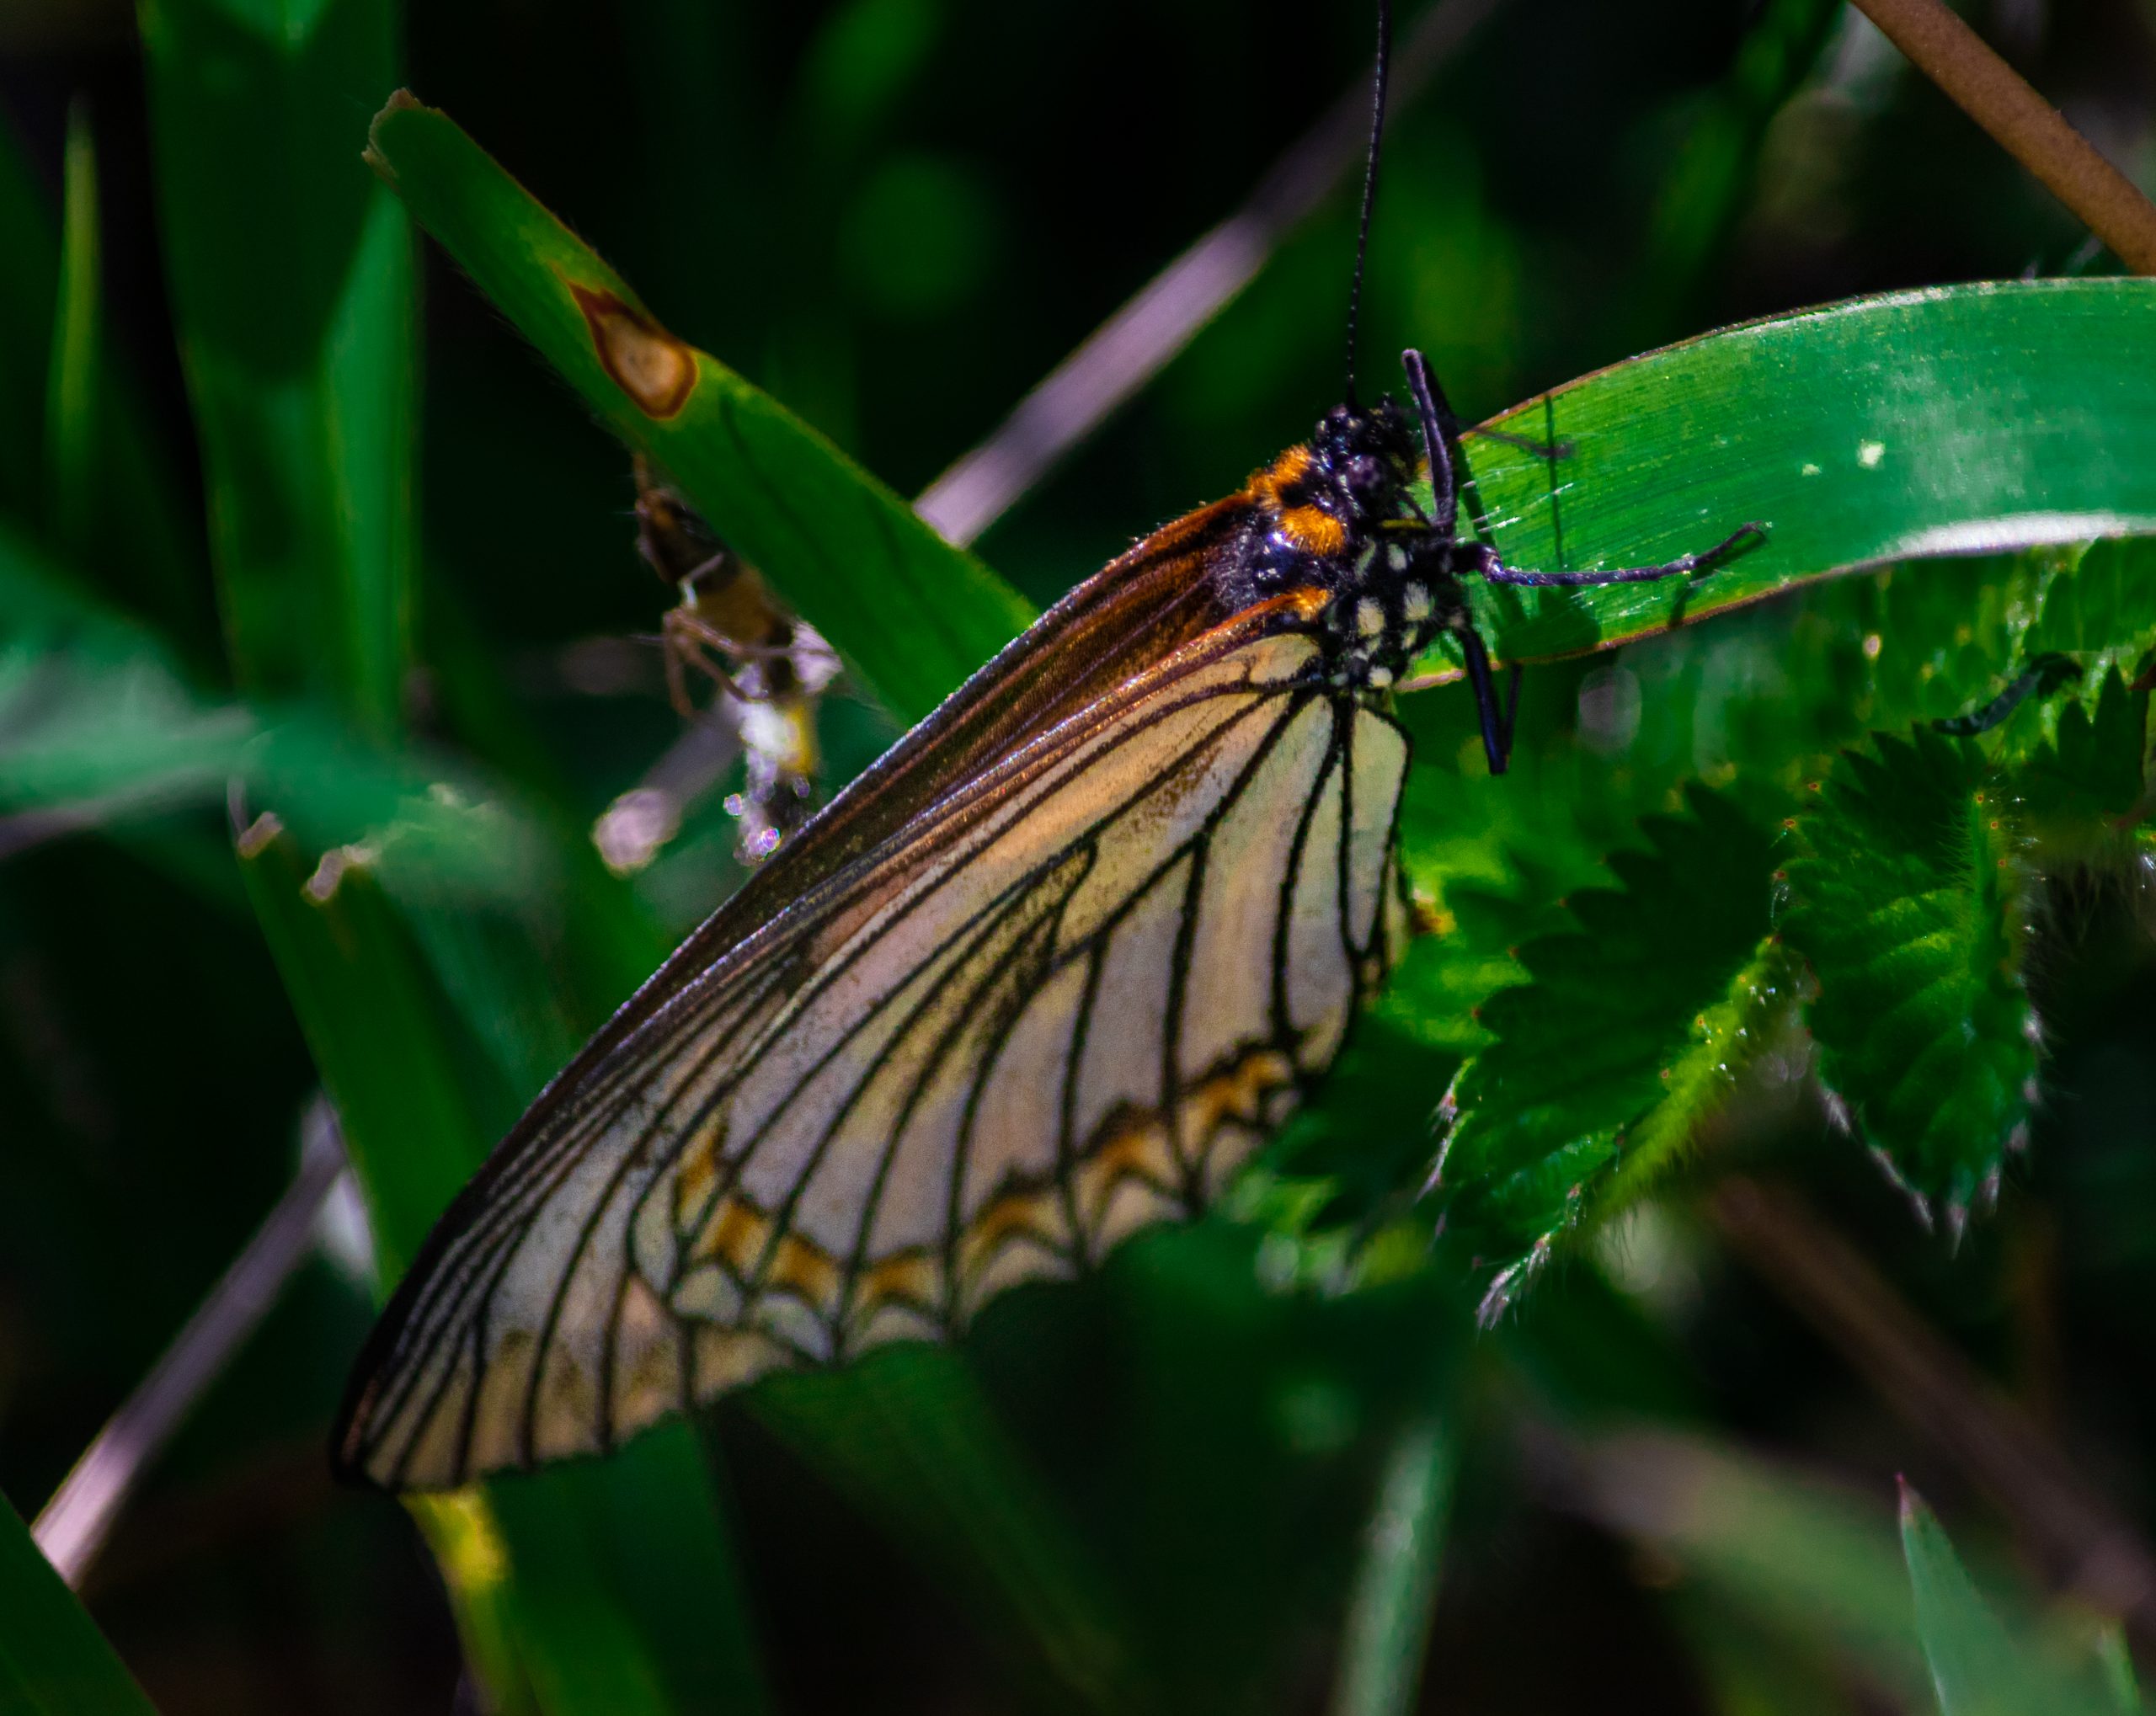
<svg viewBox="0 0 2156 1716">
<path fill-rule="evenodd" d="M 1309 442 L 1244 487 L 1255 517 L 1242 554 L 1216 571 L 1222 599 L 1242 610 L 1287 591 L 1326 591 L 1317 623 L 1328 679 L 1384 692 L 1466 614 L 1451 541 L 1412 500 L 1419 463 L 1391 399 L 1328 412 Z"/>
</svg>

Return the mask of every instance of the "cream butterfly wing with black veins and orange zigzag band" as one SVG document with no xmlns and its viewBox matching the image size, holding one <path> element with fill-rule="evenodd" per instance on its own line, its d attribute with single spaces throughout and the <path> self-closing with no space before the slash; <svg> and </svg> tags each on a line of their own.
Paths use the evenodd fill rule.
<svg viewBox="0 0 2156 1716">
<path fill-rule="evenodd" d="M 1309 636 L 1231 623 L 964 785 L 541 1095 L 338 1464 L 599 1451 L 1197 1212 L 1399 949 L 1406 759 Z"/>
</svg>

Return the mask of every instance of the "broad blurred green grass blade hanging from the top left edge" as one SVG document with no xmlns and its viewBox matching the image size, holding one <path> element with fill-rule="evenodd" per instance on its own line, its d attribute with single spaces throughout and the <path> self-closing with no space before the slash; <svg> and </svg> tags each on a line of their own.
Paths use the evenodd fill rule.
<svg viewBox="0 0 2156 1716">
<path fill-rule="evenodd" d="M 412 244 L 347 114 L 395 82 L 388 0 L 140 13 L 172 315 L 239 683 L 401 720 L 412 610 Z"/>
</svg>

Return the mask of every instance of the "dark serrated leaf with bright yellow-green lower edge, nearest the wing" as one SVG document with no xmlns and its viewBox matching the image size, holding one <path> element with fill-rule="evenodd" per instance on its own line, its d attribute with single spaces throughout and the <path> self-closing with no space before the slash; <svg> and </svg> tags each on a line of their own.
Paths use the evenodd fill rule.
<svg viewBox="0 0 2156 1716">
<path fill-rule="evenodd" d="M 1438 1186 L 1447 1237 L 1496 1268 L 1485 1317 L 1686 1147 L 1787 1009 L 1772 836 L 1703 787 L 1686 808 L 1643 817 L 1647 849 L 1608 858 L 1621 886 L 1574 892 L 1479 1013 L 1494 1041 L 1453 1087 Z"/>
</svg>

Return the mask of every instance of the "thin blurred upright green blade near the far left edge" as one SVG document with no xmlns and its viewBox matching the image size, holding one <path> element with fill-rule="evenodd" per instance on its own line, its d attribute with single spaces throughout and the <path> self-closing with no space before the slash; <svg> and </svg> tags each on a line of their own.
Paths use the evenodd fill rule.
<svg viewBox="0 0 2156 1716">
<path fill-rule="evenodd" d="M 91 515 L 97 504 L 93 459 L 99 440 L 101 293 L 97 144 L 91 138 L 88 108 L 80 97 L 67 110 L 67 179 L 60 207 L 60 287 L 54 304 L 52 379 L 45 390 L 47 524 L 65 554 L 88 563 Z"/>
</svg>

